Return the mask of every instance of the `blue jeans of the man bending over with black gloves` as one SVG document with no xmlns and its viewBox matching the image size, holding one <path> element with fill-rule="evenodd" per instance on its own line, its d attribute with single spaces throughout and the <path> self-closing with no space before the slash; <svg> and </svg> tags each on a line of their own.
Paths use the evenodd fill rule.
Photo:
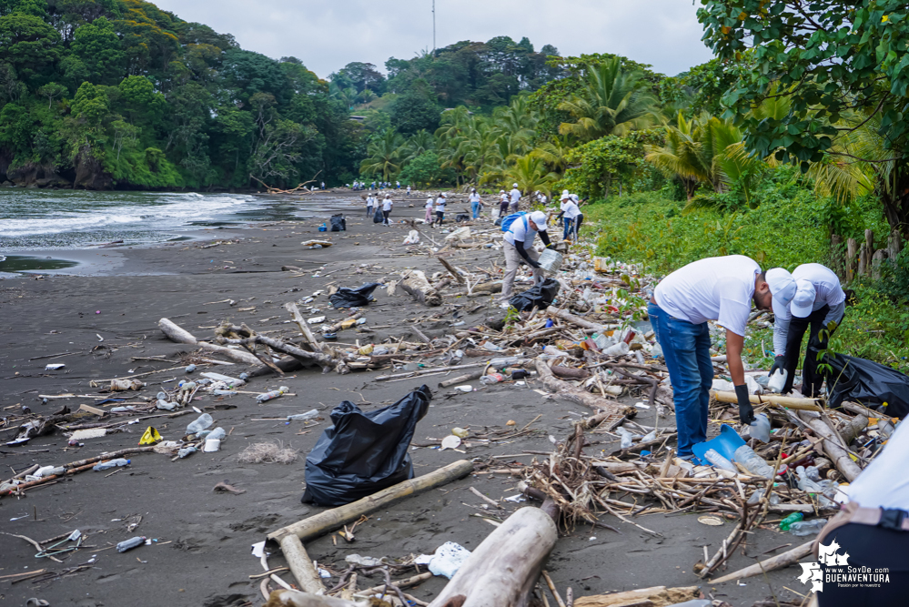
<svg viewBox="0 0 909 607">
<path fill-rule="evenodd" d="M 707 323 L 676 319 L 653 302 L 647 305 L 653 332 L 660 343 L 675 402 L 679 457 L 692 455 L 692 446 L 707 440 L 707 415 L 713 364 Z"/>
</svg>

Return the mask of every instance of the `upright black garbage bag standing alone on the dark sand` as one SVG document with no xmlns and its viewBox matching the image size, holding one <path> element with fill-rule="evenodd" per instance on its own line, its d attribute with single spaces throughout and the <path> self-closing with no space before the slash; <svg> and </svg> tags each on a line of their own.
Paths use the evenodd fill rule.
<svg viewBox="0 0 909 607">
<path fill-rule="evenodd" d="M 343 506 L 412 479 L 410 440 L 429 400 L 432 393 L 423 385 L 384 409 L 364 413 L 349 400 L 335 407 L 334 426 L 322 432 L 307 456 L 301 501 Z"/>
</svg>

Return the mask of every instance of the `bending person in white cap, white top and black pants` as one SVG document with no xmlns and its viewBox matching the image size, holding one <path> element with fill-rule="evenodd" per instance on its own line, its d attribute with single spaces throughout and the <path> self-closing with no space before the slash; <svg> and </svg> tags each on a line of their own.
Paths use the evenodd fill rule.
<svg viewBox="0 0 909 607">
<path fill-rule="evenodd" d="M 827 339 L 843 322 L 846 294 L 833 270 L 821 264 L 803 264 L 793 271 L 795 297 L 789 306 L 773 301 L 773 367 L 786 371 L 783 394 L 793 389 L 795 368 L 802 352 L 802 339 L 809 327 L 808 347 L 802 366 L 802 393 L 809 399 L 820 395 L 823 375 L 818 373 L 818 353 L 827 349 Z"/>
</svg>

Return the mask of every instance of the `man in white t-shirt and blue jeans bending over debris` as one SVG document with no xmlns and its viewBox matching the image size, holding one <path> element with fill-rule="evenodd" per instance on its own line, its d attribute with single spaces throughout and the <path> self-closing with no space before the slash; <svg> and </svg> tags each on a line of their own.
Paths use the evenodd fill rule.
<svg viewBox="0 0 909 607">
<path fill-rule="evenodd" d="M 766 273 L 751 258 L 730 255 L 706 258 L 663 278 L 647 307 L 672 382 L 679 457 L 692 457 L 692 447 L 707 440 L 707 405 L 713 382 L 708 320 L 726 329 L 726 363 L 739 401 L 742 424 L 754 421 L 742 365 L 745 325 L 752 301 L 771 309 L 773 298 L 785 306 L 795 296 L 795 281 L 783 268 Z"/>
</svg>

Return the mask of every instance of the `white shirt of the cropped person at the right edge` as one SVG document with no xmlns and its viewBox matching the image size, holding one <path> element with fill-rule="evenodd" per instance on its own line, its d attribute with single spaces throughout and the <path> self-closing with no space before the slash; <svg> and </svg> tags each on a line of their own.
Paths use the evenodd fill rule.
<svg viewBox="0 0 909 607">
<path fill-rule="evenodd" d="M 864 508 L 909 510 L 909 423 L 900 422 L 884 451 L 849 485 L 849 501 Z"/>
</svg>

